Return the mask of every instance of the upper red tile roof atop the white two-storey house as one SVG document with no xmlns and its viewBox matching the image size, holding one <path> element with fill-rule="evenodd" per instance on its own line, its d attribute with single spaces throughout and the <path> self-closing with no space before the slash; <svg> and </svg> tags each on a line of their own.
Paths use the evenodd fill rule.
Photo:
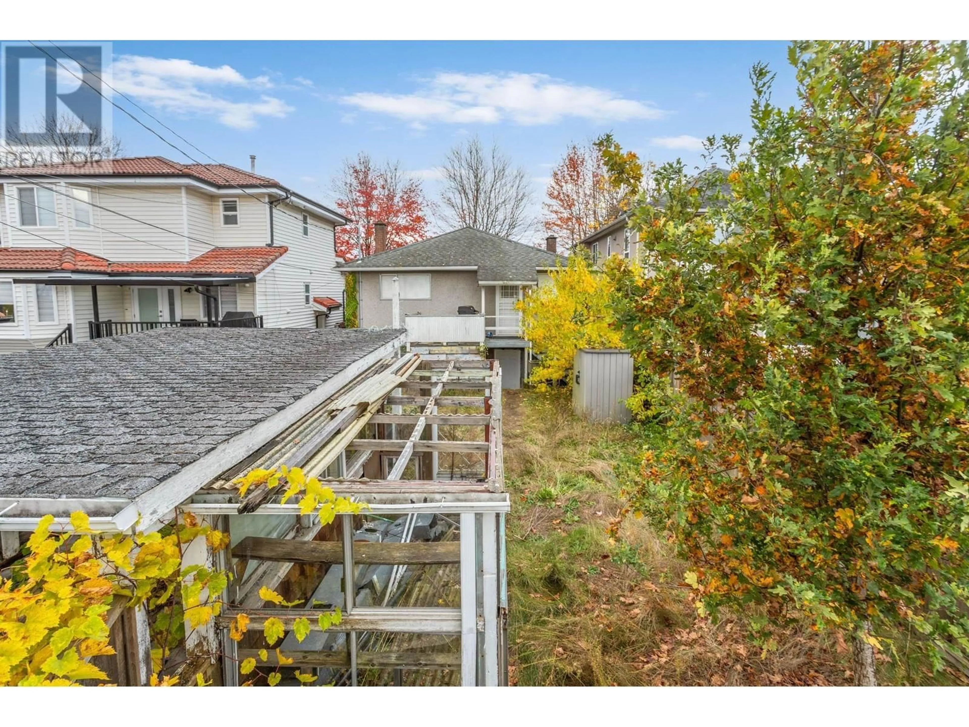
<svg viewBox="0 0 969 727">
<path fill-rule="evenodd" d="M 278 181 L 262 174 L 253 174 L 230 167 L 228 164 L 178 164 L 163 156 L 140 156 L 122 159 L 106 159 L 84 164 L 47 164 L 37 167 L 4 167 L 0 175 L 55 174 L 57 176 L 101 176 L 105 174 L 125 176 L 172 176 L 188 175 L 217 187 L 282 186 Z"/>
</svg>

